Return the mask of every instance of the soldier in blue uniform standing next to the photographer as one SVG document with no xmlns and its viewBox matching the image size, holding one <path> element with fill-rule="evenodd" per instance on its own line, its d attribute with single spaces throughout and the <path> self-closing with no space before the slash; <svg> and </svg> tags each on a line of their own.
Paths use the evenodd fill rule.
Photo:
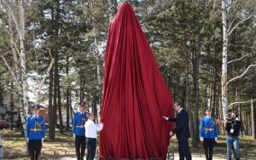
<svg viewBox="0 0 256 160">
<path fill-rule="evenodd" d="M 216 119 L 212 117 L 212 109 L 210 106 L 205 108 L 206 117 L 201 119 L 199 134 L 200 140 L 203 143 L 207 160 L 212 160 L 212 151 L 215 144 L 215 140 L 218 139 L 218 126 Z"/>
</svg>

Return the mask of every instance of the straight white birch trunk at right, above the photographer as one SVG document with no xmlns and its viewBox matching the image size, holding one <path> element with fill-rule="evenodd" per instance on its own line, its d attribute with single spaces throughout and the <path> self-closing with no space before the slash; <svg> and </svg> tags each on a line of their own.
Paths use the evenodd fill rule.
<svg viewBox="0 0 256 160">
<path fill-rule="evenodd" d="M 228 110 L 228 86 L 227 86 L 227 62 L 228 62 L 228 31 L 227 31 L 227 9 L 225 0 L 222 0 L 222 26 L 223 26 L 223 50 L 222 50 L 222 108 L 223 117 L 225 119 Z"/>
</svg>

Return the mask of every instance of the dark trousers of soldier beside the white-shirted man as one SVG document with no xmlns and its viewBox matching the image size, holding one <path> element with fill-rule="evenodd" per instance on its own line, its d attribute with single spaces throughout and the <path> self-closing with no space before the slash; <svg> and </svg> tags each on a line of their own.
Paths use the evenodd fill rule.
<svg viewBox="0 0 256 160">
<path fill-rule="evenodd" d="M 84 159 L 85 151 L 85 136 L 76 135 L 75 136 L 75 146 L 76 146 L 76 155 L 78 159 Z"/>
</svg>

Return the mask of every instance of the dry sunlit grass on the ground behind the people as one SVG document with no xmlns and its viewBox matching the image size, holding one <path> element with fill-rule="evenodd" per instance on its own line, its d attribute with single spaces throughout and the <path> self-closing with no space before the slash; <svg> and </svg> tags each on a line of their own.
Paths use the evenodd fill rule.
<svg viewBox="0 0 256 160">
<path fill-rule="evenodd" d="M 3 130 L 3 151 L 6 153 L 17 153 L 15 157 L 18 159 L 27 159 L 26 157 L 26 141 L 20 135 L 19 132 L 15 132 L 9 129 Z M 55 133 L 55 140 L 49 140 L 48 134 L 46 134 L 46 139 L 44 140 L 42 152 L 45 154 L 44 157 L 51 157 L 49 159 L 55 159 L 55 157 L 63 157 L 64 155 L 70 155 L 74 157 L 74 138 L 72 131 L 66 134 L 59 134 L 57 131 Z M 191 146 L 191 140 L 189 140 Z M 201 145 L 199 144 L 201 147 Z M 172 138 L 170 144 L 170 151 L 177 153 L 177 139 Z M 203 150 L 191 149 L 193 155 L 204 157 Z M 20 157 L 18 156 L 20 153 Z M 252 140 L 251 137 L 241 137 L 241 159 L 245 159 L 247 154 L 247 159 L 256 160 L 256 140 Z M 226 155 L 226 144 L 225 136 L 222 135 L 218 138 L 218 146 L 214 148 L 214 156 L 224 158 Z M 14 157 L 13 157 L 14 158 Z M 6 158 L 5 158 L 6 159 Z"/>
</svg>

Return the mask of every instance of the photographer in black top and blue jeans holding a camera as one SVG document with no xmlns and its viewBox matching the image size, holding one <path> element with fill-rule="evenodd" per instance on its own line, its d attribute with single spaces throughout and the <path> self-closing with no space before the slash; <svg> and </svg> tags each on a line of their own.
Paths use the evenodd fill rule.
<svg viewBox="0 0 256 160">
<path fill-rule="evenodd" d="M 231 116 L 227 118 L 225 123 L 225 129 L 227 131 L 227 154 L 229 160 L 232 159 L 232 147 L 235 149 L 236 160 L 240 159 L 239 151 L 239 133 L 241 129 L 241 121 L 236 117 L 236 113 L 231 113 Z"/>
</svg>

